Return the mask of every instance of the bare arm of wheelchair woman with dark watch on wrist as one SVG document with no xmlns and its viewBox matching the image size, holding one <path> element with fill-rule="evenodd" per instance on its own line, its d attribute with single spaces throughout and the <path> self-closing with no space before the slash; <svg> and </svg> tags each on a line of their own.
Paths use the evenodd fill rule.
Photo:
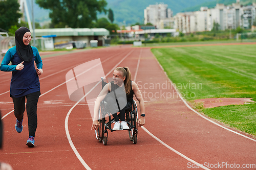
<svg viewBox="0 0 256 170">
<path fill-rule="evenodd" d="M 136 99 L 139 101 L 140 114 L 145 114 L 144 100 L 143 100 L 141 91 L 140 91 L 138 85 L 133 81 L 132 81 L 132 89 L 133 89 Z M 143 125 L 145 125 L 145 117 L 140 116 L 139 121 L 138 121 L 138 126 L 140 127 Z"/>
</svg>

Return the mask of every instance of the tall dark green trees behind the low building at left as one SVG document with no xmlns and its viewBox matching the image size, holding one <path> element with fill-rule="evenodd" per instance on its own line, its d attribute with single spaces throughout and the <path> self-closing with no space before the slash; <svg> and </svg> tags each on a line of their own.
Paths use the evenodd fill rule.
<svg viewBox="0 0 256 170">
<path fill-rule="evenodd" d="M 105 28 L 116 34 L 119 28 L 114 22 L 112 9 L 106 9 L 105 0 L 36 0 L 39 7 L 49 9 L 49 28 Z M 108 18 L 97 18 L 97 12 L 108 13 Z M 13 32 L 26 23 L 18 23 L 22 17 L 17 0 L 0 1 L 0 28 Z"/>
</svg>

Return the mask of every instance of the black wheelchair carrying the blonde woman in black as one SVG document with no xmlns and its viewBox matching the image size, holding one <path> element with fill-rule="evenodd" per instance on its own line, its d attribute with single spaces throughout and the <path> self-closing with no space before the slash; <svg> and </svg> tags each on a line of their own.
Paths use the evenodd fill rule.
<svg viewBox="0 0 256 170">
<path fill-rule="evenodd" d="M 104 82 L 103 78 L 101 77 L 101 85 L 102 88 L 107 83 Z M 102 89 L 101 88 L 101 89 Z M 106 145 L 108 142 L 108 130 L 111 132 L 116 131 L 112 129 L 112 123 L 115 121 L 114 118 L 111 118 L 111 113 L 109 113 L 108 109 L 106 109 L 107 103 L 103 100 L 100 103 L 100 108 L 98 112 L 98 121 L 99 121 L 99 128 L 95 130 L 96 139 L 99 142 L 103 141 L 103 144 Z M 130 129 L 127 129 L 129 132 L 129 138 L 133 141 L 134 144 L 137 143 L 137 135 L 138 135 L 138 112 L 137 112 L 137 104 L 133 100 L 132 103 L 128 103 L 125 108 L 125 122 L 129 126 Z"/>
</svg>

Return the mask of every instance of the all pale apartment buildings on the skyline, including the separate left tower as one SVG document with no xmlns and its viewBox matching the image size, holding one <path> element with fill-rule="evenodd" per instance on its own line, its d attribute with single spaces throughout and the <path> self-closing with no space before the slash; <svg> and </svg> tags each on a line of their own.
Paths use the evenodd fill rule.
<svg viewBox="0 0 256 170">
<path fill-rule="evenodd" d="M 256 17 L 256 3 L 242 6 L 240 1 L 232 5 L 216 4 L 215 8 L 201 7 L 200 11 L 180 12 L 173 16 L 166 4 L 150 5 L 144 9 L 144 24 L 150 22 L 157 29 L 174 28 L 182 33 L 211 31 L 214 23 L 219 30 L 249 29 Z"/>
</svg>

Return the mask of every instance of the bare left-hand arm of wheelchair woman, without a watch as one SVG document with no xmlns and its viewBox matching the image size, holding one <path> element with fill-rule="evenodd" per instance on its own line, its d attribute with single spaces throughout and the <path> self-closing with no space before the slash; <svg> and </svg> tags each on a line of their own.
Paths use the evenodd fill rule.
<svg viewBox="0 0 256 170">
<path fill-rule="evenodd" d="M 99 93 L 95 105 L 94 105 L 94 113 L 93 113 L 93 125 L 92 125 L 92 130 L 98 129 L 99 127 L 99 121 L 98 121 L 98 112 L 99 112 L 99 107 L 100 107 L 100 102 L 105 99 L 106 94 L 109 92 L 109 88 L 111 89 L 111 84 L 108 83 L 106 84 L 101 92 Z"/>
</svg>

